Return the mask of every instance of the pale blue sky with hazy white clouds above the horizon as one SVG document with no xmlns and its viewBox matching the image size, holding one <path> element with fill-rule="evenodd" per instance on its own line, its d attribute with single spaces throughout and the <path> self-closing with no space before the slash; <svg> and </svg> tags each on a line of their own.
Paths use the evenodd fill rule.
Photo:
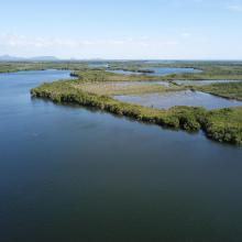
<svg viewBox="0 0 242 242">
<path fill-rule="evenodd" d="M 242 59 L 242 0 L 1 0 L 6 54 Z"/>
</svg>

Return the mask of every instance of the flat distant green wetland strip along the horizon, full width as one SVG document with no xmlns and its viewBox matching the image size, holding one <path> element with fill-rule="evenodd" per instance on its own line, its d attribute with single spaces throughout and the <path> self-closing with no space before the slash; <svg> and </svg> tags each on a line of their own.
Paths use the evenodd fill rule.
<svg viewBox="0 0 242 242">
<path fill-rule="evenodd" d="M 204 80 L 204 79 L 237 79 L 242 80 L 242 62 L 165 62 L 151 63 L 144 61 L 130 62 L 103 62 L 108 67 L 90 67 L 92 62 L 55 62 L 55 63 L 0 63 L 0 73 L 19 72 L 19 70 L 38 70 L 38 69 L 69 69 L 69 70 L 90 70 L 97 69 L 105 72 L 106 69 L 123 69 L 134 73 L 143 73 L 142 75 L 123 76 L 114 75 L 112 80 Z M 101 64 L 101 63 L 100 63 Z M 202 73 L 189 74 L 172 74 L 167 76 L 151 76 L 145 73 L 153 73 L 151 67 L 179 67 L 195 68 Z M 75 75 L 81 75 L 75 73 Z"/>
</svg>

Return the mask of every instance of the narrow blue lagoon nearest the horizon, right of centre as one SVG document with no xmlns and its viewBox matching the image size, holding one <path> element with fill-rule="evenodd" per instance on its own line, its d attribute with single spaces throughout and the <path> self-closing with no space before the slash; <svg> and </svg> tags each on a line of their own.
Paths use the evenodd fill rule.
<svg viewBox="0 0 242 242">
<path fill-rule="evenodd" d="M 148 67 L 147 69 L 154 70 L 154 73 L 145 73 L 144 75 L 150 76 L 165 76 L 169 74 L 179 74 L 179 73 L 200 73 L 201 70 L 194 69 L 194 68 L 172 68 L 172 67 Z M 143 73 L 136 72 L 128 72 L 122 69 L 116 70 L 108 70 L 114 74 L 122 74 L 122 75 L 142 75 Z"/>
</svg>

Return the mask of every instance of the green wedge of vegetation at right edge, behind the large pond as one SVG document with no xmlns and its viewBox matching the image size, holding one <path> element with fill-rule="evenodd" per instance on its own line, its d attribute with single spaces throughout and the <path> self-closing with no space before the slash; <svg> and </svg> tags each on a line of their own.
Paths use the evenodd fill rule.
<svg viewBox="0 0 242 242">
<path fill-rule="evenodd" d="M 196 89 L 209 92 L 219 97 L 237 99 L 242 101 L 242 81 L 241 82 L 227 82 L 227 84 L 212 84 L 208 86 L 196 87 Z"/>
</svg>

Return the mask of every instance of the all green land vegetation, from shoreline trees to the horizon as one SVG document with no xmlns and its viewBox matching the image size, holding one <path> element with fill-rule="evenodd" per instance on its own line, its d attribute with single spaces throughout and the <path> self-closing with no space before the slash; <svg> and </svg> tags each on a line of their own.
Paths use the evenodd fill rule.
<svg viewBox="0 0 242 242">
<path fill-rule="evenodd" d="M 107 62 L 106 62 L 107 63 Z M 31 90 L 33 97 L 47 98 L 55 102 L 77 103 L 94 107 L 118 116 L 125 116 L 139 121 L 155 123 L 173 129 L 195 132 L 202 129 L 207 135 L 219 142 L 242 144 L 242 107 L 207 111 L 202 108 L 174 107 L 169 110 L 157 110 L 136 105 L 129 105 L 112 99 L 111 95 L 163 92 L 178 89 L 195 89 L 212 95 L 242 100 L 242 82 L 213 84 L 209 86 L 167 87 L 134 84 L 117 86 L 117 81 L 152 81 L 152 80 L 202 80 L 202 79 L 238 79 L 242 80 L 241 62 L 108 62 L 109 67 L 90 67 L 90 62 L 56 63 L 0 63 L 0 73 L 42 69 L 69 69 L 77 80 L 44 84 Z M 173 74 L 167 76 L 145 75 L 151 67 L 190 67 L 200 69 L 196 74 Z M 119 75 L 106 69 L 124 69 L 141 72 L 142 75 Z M 172 84 L 170 84 L 172 85 Z"/>
</svg>

